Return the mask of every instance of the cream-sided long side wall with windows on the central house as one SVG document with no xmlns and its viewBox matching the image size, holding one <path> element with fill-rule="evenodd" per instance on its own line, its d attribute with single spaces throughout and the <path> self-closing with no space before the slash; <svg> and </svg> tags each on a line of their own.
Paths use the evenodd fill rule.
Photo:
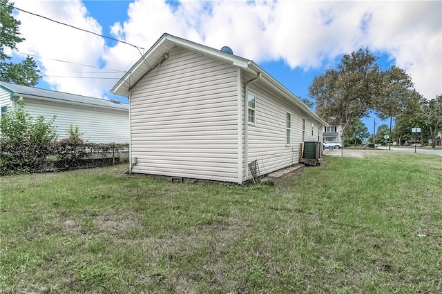
<svg viewBox="0 0 442 294">
<path fill-rule="evenodd" d="M 243 83 L 253 76 L 244 75 Z M 305 140 L 318 141 L 320 139 L 320 123 L 314 121 L 307 113 L 295 104 L 287 101 L 282 94 L 269 89 L 261 80 L 254 81 L 247 86 L 247 92 L 255 95 L 255 124 L 247 124 L 247 143 L 245 143 L 244 157 L 247 163 L 257 159 L 260 175 L 271 173 L 274 170 L 297 164 L 300 159 L 300 144 L 302 143 L 302 119 L 305 119 Z M 247 94 L 246 94 L 247 95 Z M 247 103 L 247 99 L 244 99 Z M 247 104 L 246 104 L 247 107 Z M 291 144 L 286 141 L 286 114 L 291 113 Z M 311 134 L 311 124 L 314 132 Z M 251 175 L 247 164 L 244 166 L 244 179 Z"/>
</svg>

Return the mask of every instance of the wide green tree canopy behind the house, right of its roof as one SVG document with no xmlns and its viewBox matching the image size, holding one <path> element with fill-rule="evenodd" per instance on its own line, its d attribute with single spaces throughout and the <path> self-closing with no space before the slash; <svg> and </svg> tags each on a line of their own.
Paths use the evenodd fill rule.
<svg viewBox="0 0 442 294">
<path fill-rule="evenodd" d="M 396 119 L 398 130 L 394 135 L 399 140 L 410 137 L 412 126 L 431 126 L 433 135 L 434 130 L 441 129 L 441 119 L 434 118 L 440 113 L 439 102 L 423 99 L 405 70 L 396 66 L 380 70 L 377 57 L 367 48 L 343 55 L 336 69 L 329 68 L 316 76 L 309 86 L 309 96 L 316 101 L 318 115 L 340 124 L 347 139 L 354 135 L 352 124 L 370 112 L 383 120 L 390 118 L 390 137 L 392 119 Z"/>
</svg>

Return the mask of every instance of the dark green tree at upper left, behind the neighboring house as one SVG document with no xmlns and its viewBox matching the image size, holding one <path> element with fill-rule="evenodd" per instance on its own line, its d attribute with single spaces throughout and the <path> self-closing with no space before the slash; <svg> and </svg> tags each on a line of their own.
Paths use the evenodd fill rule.
<svg viewBox="0 0 442 294">
<path fill-rule="evenodd" d="M 0 80 L 35 86 L 39 81 L 35 60 L 28 56 L 20 63 L 12 63 L 5 53 L 5 48 L 17 50 L 17 43 L 24 40 L 19 37 L 20 21 L 12 15 L 13 5 L 8 0 L 0 0 Z"/>
</svg>

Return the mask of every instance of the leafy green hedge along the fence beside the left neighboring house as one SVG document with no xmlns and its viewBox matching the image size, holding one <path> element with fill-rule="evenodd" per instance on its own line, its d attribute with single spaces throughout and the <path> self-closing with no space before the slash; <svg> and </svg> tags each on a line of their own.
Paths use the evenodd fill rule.
<svg viewBox="0 0 442 294">
<path fill-rule="evenodd" d="M 115 157 L 128 144 L 95 144 L 81 139 L 78 126 L 70 126 L 68 138 L 57 141 L 55 117 L 46 121 L 37 118 L 19 104 L 17 110 L 8 110 L 0 124 L 0 175 L 35 173 L 53 162 L 65 168 L 80 167 L 84 159 Z"/>
</svg>

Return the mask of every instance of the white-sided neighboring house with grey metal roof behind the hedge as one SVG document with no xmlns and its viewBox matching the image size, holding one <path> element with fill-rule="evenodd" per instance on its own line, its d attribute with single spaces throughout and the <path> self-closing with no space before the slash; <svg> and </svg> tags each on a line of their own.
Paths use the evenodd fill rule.
<svg viewBox="0 0 442 294">
<path fill-rule="evenodd" d="M 8 106 L 17 108 L 18 101 L 23 101 L 32 117 L 43 115 L 48 120 L 56 115 L 58 139 L 67 137 L 66 131 L 73 125 L 79 126 L 83 139 L 93 143 L 129 141 L 128 104 L 0 81 L 1 115 Z"/>
</svg>

